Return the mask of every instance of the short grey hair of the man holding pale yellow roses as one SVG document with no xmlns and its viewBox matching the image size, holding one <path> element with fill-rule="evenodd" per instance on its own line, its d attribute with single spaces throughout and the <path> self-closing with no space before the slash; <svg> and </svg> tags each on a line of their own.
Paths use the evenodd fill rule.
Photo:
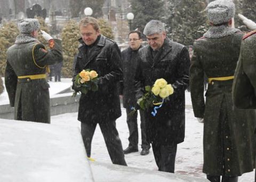
<svg viewBox="0 0 256 182">
<path fill-rule="evenodd" d="M 165 29 L 164 24 L 161 21 L 151 20 L 146 24 L 143 34 L 148 36 L 150 34 L 162 33 L 163 31 L 165 31 Z"/>
</svg>

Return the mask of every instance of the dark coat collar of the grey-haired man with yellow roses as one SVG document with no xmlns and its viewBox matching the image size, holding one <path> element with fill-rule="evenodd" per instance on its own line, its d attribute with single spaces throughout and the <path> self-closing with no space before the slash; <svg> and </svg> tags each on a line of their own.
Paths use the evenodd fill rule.
<svg viewBox="0 0 256 182">
<path fill-rule="evenodd" d="M 166 37 L 163 46 L 158 50 L 158 53 L 154 58 L 151 54 L 151 50 L 152 48 L 149 46 L 147 59 L 153 60 L 153 65 L 151 67 L 155 67 L 155 65 L 157 65 L 172 50 L 172 42 L 169 38 Z"/>
</svg>

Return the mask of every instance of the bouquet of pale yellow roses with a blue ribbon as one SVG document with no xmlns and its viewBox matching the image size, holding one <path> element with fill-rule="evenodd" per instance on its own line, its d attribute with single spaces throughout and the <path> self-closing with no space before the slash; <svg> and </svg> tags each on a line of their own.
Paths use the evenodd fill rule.
<svg viewBox="0 0 256 182">
<path fill-rule="evenodd" d="M 138 107 L 132 108 L 130 112 L 131 115 L 139 109 L 146 110 L 150 107 L 154 107 L 151 114 L 155 116 L 157 109 L 163 106 L 164 100 L 173 94 L 172 85 L 167 84 L 165 79 L 157 79 L 153 86 L 145 86 L 145 91 L 146 93 L 137 101 Z"/>
</svg>

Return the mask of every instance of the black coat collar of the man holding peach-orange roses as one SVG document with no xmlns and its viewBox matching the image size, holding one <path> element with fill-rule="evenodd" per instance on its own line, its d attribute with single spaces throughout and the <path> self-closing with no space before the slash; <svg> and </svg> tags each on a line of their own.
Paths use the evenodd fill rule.
<svg viewBox="0 0 256 182">
<path fill-rule="evenodd" d="M 95 42 L 92 46 L 91 46 L 91 50 L 90 50 L 90 55 L 89 57 L 87 57 L 86 54 L 86 45 L 83 41 L 82 38 L 78 39 L 78 41 L 81 43 L 81 45 L 79 45 L 78 49 L 79 52 L 82 53 L 83 57 L 86 58 L 85 59 L 85 64 L 84 67 L 86 65 L 88 65 L 97 55 L 99 55 L 102 47 L 105 46 L 105 42 L 106 42 L 106 37 L 100 35 L 99 36 L 99 40 L 97 42 Z"/>
</svg>

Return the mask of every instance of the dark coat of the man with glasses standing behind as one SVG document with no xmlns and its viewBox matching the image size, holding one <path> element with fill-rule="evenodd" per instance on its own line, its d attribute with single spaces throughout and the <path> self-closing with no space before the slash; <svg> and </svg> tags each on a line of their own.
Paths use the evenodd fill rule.
<svg viewBox="0 0 256 182">
<path fill-rule="evenodd" d="M 134 76 L 138 62 L 138 50 L 131 47 L 122 51 L 123 67 L 123 106 L 124 108 L 134 107 L 137 102 L 134 89 Z"/>
</svg>

